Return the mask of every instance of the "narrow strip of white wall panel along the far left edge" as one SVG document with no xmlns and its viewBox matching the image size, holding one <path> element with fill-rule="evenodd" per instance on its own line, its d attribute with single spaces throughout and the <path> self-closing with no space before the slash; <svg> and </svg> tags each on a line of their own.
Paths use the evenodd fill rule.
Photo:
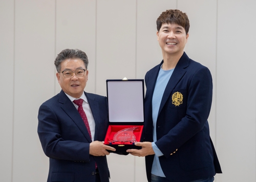
<svg viewBox="0 0 256 182">
<path fill-rule="evenodd" d="M 0 181 L 11 181 L 13 139 L 14 2 L 0 1 Z"/>
</svg>

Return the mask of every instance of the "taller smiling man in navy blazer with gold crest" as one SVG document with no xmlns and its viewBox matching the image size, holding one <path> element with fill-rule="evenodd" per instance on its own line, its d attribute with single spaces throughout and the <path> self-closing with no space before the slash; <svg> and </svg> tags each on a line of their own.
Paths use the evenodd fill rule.
<svg viewBox="0 0 256 182">
<path fill-rule="evenodd" d="M 163 61 L 145 75 L 144 142 L 146 174 L 152 182 L 212 182 L 221 167 L 209 136 L 207 118 L 212 78 L 207 67 L 188 58 L 184 47 L 189 20 L 179 10 L 157 19 L 157 39 Z"/>
</svg>

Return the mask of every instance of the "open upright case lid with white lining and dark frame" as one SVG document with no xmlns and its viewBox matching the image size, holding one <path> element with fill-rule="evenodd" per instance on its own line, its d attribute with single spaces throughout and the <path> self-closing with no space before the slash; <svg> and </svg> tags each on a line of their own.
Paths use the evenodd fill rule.
<svg viewBox="0 0 256 182">
<path fill-rule="evenodd" d="M 144 122 L 144 80 L 106 80 L 109 122 L 114 125 L 142 125 Z"/>
</svg>

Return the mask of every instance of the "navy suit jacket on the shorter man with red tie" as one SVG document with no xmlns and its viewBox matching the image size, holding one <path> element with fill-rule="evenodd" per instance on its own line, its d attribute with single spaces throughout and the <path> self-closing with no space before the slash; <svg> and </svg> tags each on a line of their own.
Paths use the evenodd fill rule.
<svg viewBox="0 0 256 182">
<path fill-rule="evenodd" d="M 84 93 L 95 120 L 94 141 L 104 141 L 108 128 L 106 97 Z M 89 154 L 92 140 L 87 128 L 74 104 L 62 90 L 40 106 L 37 132 L 42 149 L 50 158 L 48 182 L 95 181 L 95 162 L 101 181 L 109 181 L 106 157 Z"/>
</svg>

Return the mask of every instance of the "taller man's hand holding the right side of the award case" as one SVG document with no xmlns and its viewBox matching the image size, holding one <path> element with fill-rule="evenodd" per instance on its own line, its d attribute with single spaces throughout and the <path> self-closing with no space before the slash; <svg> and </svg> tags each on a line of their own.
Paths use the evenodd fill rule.
<svg viewBox="0 0 256 182">
<path fill-rule="evenodd" d="M 126 152 L 131 153 L 132 155 L 139 156 L 139 157 L 145 157 L 146 155 L 153 155 L 155 154 L 152 143 L 151 142 L 136 142 L 136 146 L 141 146 L 142 148 L 140 150 L 138 149 L 128 149 Z"/>
</svg>

